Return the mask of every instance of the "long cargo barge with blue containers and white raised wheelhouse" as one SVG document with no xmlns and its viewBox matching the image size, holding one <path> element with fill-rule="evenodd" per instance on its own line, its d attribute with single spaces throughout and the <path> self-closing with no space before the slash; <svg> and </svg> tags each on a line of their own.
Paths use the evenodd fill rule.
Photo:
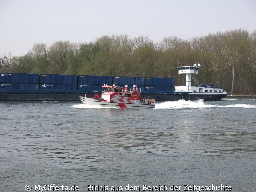
<svg viewBox="0 0 256 192">
<path fill-rule="evenodd" d="M 186 85 L 175 86 L 173 78 L 89 76 L 58 74 L 0 74 L 0 101 L 79 101 L 79 96 L 102 94 L 104 84 L 119 87 L 133 85 L 141 90 L 141 97 L 156 101 L 221 100 L 227 93 L 217 86 L 191 86 L 191 74 L 197 74 L 200 65 L 177 67 L 186 74 Z"/>
</svg>

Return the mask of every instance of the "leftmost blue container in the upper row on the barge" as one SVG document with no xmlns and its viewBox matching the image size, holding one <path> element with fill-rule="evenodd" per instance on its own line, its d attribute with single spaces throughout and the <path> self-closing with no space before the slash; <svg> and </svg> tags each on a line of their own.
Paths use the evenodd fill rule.
<svg viewBox="0 0 256 192">
<path fill-rule="evenodd" d="M 39 75 L 33 73 L 1 73 L 0 83 L 39 83 Z"/>
</svg>

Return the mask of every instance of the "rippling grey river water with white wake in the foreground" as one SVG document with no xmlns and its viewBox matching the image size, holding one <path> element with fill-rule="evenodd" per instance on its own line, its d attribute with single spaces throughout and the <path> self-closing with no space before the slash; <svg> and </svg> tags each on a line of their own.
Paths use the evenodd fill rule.
<svg viewBox="0 0 256 192">
<path fill-rule="evenodd" d="M 150 110 L 0 102 L 0 191 L 256 191 L 255 117 L 253 97 Z"/>
</svg>

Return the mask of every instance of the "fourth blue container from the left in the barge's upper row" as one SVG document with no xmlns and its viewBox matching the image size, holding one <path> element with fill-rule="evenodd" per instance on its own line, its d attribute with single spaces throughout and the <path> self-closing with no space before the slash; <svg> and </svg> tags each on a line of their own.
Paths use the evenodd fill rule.
<svg viewBox="0 0 256 192">
<path fill-rule="evenodd" d="M 117 85 L 142 85 L 142 86 L 144 86 L 144 77 L 113 76 L 113 83 L 115 83 Z"/>
</svg>

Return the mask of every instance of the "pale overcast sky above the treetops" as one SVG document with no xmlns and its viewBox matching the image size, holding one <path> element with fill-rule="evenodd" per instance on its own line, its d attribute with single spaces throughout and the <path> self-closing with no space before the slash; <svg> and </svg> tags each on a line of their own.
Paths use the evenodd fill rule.
<svg viewBox="0 0 256 192">
<path fill-rule="evenodd" d="M 256 30 L 256 0 L 0 0 L 0 56 L 35 43 L 90 42 L 105 35 L 187 39 Z"/>
</svg>

